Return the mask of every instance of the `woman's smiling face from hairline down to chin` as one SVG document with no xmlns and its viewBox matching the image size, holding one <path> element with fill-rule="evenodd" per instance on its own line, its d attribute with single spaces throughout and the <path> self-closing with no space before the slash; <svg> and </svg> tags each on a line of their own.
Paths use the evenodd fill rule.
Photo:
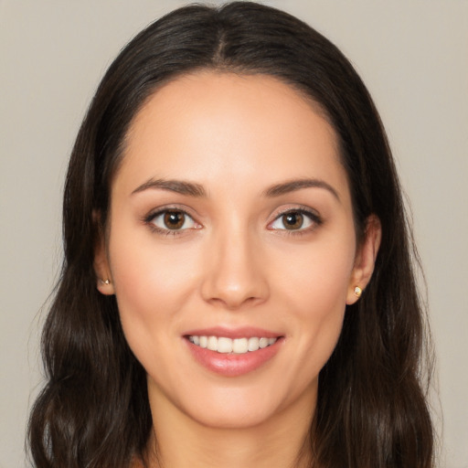
<svg viewBox="0 0 468 468">
<path fill-rule="evenodd" d="M 153 410 L 216 427 L 311 414 L 369 263 L 311 101 L 215 72 L 157 90 L 128 133 L 109 228 L 99 289 L 116 295 Z"/>
</svg>

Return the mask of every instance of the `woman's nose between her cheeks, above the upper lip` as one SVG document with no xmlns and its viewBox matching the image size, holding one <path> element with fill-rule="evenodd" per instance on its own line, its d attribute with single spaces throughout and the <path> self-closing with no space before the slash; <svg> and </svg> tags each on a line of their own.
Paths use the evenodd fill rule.
<svg viewBox="0 0 468 468">
<path fill-rule="evenodd" d="M 237 310 L 268 299 L 268 264 L 253 237 L 247 229 L 237 229 L 211 239 L 201 289 L 205 301 Z"/>
</svg>

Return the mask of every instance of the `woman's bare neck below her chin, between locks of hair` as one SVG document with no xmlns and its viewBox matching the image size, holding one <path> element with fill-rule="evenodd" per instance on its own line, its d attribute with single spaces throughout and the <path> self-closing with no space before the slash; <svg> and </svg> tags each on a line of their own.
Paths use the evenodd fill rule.
<svg viewBox="0 0 468 468">
<path fill-rule="evenodd" d="M 154 435 L 148 444 L 151 468 L 305 468 L 312 466 L 310 427 L 315 400 L 303 396 L 259 425 L 245 428 L 207 427 L 176 407 L 154 415 Z"/>
</svg>

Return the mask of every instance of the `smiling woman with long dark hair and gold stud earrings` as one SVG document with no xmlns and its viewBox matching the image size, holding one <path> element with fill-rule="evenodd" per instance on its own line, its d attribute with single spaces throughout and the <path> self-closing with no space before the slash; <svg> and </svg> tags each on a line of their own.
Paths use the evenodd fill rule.
<svg viewBox="0 0 468 468">
<path fill-rule="evenodd" d="M 257 4 L 165 16 L 71 155 L 34 462 L 431 467 L 409 239 L 335 46 Z"/>
</svg>

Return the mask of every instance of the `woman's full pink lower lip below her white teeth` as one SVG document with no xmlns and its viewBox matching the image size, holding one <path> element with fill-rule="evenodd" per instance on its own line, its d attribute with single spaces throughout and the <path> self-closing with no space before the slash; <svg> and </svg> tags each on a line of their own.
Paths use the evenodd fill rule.
<svg viewBox="0 0 468 468">
<path fill-rule="evenodd" d="M 281 337 L 273 345 L 237 355 L 211 351 L 206 347 L 194 345 L 186 339 L 187 346 L 198 363 L 211 372 L 224 377 L 243 376 L 263 366 L 278 353 L 282 341 L 283 338 Z"/>
</svg>

